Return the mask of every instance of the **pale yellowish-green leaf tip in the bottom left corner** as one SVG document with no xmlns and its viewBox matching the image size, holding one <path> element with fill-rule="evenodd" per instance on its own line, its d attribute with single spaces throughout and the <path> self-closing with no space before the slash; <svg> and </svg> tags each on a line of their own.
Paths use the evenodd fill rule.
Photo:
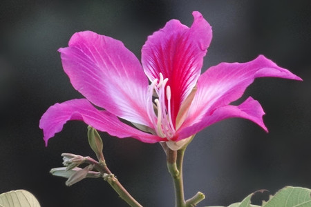
<svg viewBox="0 0 311 207">
<path fill-rule="evenodd" d="M 12 190 L 0 194 L 0 207 L 40 207 L 40 204 L 27 190 Z"/>
</svg>

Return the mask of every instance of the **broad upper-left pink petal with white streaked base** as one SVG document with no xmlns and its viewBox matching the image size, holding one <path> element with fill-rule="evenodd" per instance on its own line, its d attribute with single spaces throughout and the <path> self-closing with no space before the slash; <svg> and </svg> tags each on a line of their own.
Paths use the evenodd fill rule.
<svg viewBox="0 0 311 207">
<path fill-rule="evenodd" d="M 146 112 L 148 79 L 121 41 L 77 32 L 69 47 L 59 52 L 73 87 L 84 97 L 118 117 L 151 126 Z"/>
</svg>

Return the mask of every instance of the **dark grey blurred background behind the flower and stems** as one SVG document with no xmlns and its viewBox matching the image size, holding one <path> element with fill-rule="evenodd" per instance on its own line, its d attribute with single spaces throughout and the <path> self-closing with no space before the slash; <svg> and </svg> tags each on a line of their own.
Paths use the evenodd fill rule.
<svg viewBox="0 0 311 207">
<path fill-rule="evenodd" d="M 265 133 L 228 119 L 198 133 L 185 156 L 185 195 L 199 206 L 227 206 L 256 190 L 311 188 L 311 1 L 114 0 L 8 1 L 0 6 L 0 193 L 26 189 L 41 206 L 126 206 L 109 184 L 85 179 L 71 187 L 53 177 L 62 152 L 93 155 L 86 124 L 72 121 L 46 148 L 39 119 L 56 102 L 82 97 L 62 70 L 57 49 L 74 32 L 93 30 L 140 58 L 147 36 L 170 19 L 191 26 L 200 11 L 213 27 L 205 65 L 250 61 L 263 54 L 304 81 L 257 79 L 245 92 L 266 115 Z M 173 186 L 159 144 L 101 133 L 109 168 L 143 206 L 173 206 Z"/>
</svg>

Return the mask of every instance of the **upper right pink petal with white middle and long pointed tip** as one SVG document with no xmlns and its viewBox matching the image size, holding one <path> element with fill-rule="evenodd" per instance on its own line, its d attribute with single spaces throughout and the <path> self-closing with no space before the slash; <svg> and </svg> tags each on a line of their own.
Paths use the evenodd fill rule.
<svg viewBox="0 0 311 207">
<path fill-rule="evenodd" d="M 209 112 L 236 101 L 257 77 L 301 80 L 263 55 L 247 63 L 220 63 L 209 68 L 198 79 L 198 89 L 184 127 L 196 124 Z"/>
</svg>

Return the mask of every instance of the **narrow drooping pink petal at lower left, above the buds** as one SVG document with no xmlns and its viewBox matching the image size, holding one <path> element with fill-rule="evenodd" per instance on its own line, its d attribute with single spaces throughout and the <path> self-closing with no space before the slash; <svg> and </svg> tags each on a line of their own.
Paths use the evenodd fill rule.
<svg viewBox="0 0 311 207">
<path fill-rule="evenodd" d="M 86 99 L 73 99 L 63 103 L 55 103 L 41 117 L 39 127 L 44 130 L 46 146 L 48 139 L 53 137 L 55 133 L 60 132 L 64 124 L 70 120 L 84 121 L 97 130 L 108 132 L 109 135 L 119 138 L 133 137 L 147 143 L 163 141 L 160 137 L 150 135 L 122 123 L 108 111 L 97 110 Z"/>
</svg>

